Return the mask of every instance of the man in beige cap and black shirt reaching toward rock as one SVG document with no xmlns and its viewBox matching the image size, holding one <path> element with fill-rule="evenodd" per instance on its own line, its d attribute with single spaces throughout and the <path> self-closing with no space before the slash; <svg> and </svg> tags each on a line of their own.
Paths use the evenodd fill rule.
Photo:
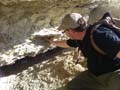
<svg viewBox="0 0 120 90">
<path fill-rule="evenodd" d="M 88 70 L 60 90 L 120 90 L 120 38 L 108 27 L 90 28 L 88 21 L 89 17 L 79 13 L 66 14 L 58 29 L 64 30 L 70 39 L 49 40 L 51 44 L 63 48 L 78 47 L 87 58 Z M 120 23 L 120 20 L 116 21 Z M 98 52 L 92 45 L 92 30 L 94 42 L 107 54 Z"/>
</svg>

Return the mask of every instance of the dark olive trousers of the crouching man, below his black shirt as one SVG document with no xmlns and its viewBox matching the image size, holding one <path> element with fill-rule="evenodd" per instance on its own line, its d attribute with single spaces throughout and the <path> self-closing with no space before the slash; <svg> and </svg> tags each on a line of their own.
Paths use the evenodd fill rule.
<svg viewBox="0 0 120 90">
<path fill-rule="evenodd" d="M 85 71 L 57 90 L 120 90 L 120 70 L 100 76 Z"/>
</svg>

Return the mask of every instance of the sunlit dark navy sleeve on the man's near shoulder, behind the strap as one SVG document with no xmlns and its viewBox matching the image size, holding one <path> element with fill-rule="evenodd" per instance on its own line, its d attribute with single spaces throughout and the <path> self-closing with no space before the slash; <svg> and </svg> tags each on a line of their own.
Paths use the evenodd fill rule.
<svg viewBox="0 0 120 90">
<path fill-rule="evenodd" d="M 99 29 L 93 33 L 96 45 L 106 52 L 108 56 L 114 58 L 120 51 L 120 38 L 108 28 Z"/>
</svg>

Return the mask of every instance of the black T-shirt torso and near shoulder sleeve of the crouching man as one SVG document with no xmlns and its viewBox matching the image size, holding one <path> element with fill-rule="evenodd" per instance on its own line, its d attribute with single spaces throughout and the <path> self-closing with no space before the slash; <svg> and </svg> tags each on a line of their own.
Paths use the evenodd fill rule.
<svg viewBox="0 0 120 90">
<path fill-rule="evenodd" d="M 115 57 L 120 50 L 120 38 L 112 30 L 104 26 L 96 29 L 92 34 L 94 42 L 107 52 L 107 55 L 99 53 L 93 47 L 90 39 L 91 30 L 87 30 L 87 34 L 82 41 L 82 52 L 88 59 L 88 69 L 95 75 L 101 75 L 120 68 L 120 60 Z"/>
</svg>

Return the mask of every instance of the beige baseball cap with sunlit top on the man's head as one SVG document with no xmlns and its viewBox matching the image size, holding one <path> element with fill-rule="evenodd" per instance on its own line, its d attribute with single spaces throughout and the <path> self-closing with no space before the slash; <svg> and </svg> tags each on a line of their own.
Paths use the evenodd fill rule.
<svg viewBox="0 0 120 90">
<path fill-rule="evenodd" d="M 62 19 L 61 25 L 58 27 L 58 30 L 66 30 L 69 28 L 79 27 L 78 20 L 80 18 L 82 18 L 82 15 L 79 13 L 66 14 Z"/>
</svg>

